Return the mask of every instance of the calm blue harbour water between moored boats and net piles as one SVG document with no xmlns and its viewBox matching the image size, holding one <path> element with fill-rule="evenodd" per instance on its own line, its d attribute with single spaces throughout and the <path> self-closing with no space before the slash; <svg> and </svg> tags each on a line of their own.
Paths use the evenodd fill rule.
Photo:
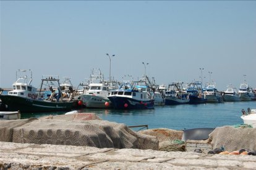
<svg viewBox="0 0 256 170">
<path fill-rule="evenodd" d="M 81 113 L 96 113 L 100 118 L 124 123 L 127 126 L 148 124 L 149 129 L 192 129 L 218 127 L 243 123 L 242 108 L 256 108 L 256 101 L 206 103 L 200 105 L 176 105 L 155 107 L 152 110 L 82 109 Z M 51 113 L 22 113 L 22 118 L 46 115 L 63 115 L 64 111 Z"/>
</svg>

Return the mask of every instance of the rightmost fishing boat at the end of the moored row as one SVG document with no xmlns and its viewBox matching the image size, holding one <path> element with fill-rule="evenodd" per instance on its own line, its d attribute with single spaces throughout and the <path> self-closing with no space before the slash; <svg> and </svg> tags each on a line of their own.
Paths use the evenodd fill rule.
<svg viewBox="0 0 256 170">
<path fill-rule="evenodd" d="M 241 101 L 250 101 L 250 100 L 254 100 L 255 98 L 255 94 L 252 87 L 250 87 L 247 84 L 245 79 L 244 79 L 244 82 L 240 84 L 238 93 Z"/>
</svg>

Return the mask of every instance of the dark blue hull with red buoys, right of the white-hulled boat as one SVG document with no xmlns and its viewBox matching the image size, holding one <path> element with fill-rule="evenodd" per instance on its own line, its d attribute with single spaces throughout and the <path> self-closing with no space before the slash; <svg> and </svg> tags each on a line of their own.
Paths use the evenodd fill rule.
<svg viewBox="0 0 256 170">
<path fill-rule="evenodd" d="M 154 100 L 135 100 L 128 97 L 108 97 L 115 109 L 151 109 L 154 108 Z"/>
</svg>

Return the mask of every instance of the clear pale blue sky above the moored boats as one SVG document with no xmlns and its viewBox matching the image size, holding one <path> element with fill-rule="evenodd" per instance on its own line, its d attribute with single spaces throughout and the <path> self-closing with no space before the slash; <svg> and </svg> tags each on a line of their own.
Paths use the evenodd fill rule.
<svg viewBox="0 0 256 170">
<path fill-rule="evenodd" d="M 157 84 L 210 79 L 256 88 L 256 1 L 0 1 L 0 87 L 19 69 L 109 79 L 146 72 Z M 143 63 L 146 63 L 144 66 Z M 147 65 L 148 63 L 148 65 Z M 200 70 L 200 68 L 202 70 Z M 210 72 L 210 73 L 209 73 Z M 126 75 L 126 79 L 123 79 Z M 244 76 L 246 75 L 246 76 Z"/>
</svg>

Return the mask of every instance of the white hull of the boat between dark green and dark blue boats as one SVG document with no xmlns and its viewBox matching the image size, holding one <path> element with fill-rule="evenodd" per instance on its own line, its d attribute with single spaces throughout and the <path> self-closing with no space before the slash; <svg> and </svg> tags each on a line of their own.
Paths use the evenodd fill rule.
<svg viewBox="0 0 256 170">
<path fill-rule="evenodd" d="M 111 108 L 111 102 L 108 98 L 96 95 L 81 95 L 83 105 L 88 108 Z M 108 102 L 108 104 L 106 104 Z"/>
</svg>

